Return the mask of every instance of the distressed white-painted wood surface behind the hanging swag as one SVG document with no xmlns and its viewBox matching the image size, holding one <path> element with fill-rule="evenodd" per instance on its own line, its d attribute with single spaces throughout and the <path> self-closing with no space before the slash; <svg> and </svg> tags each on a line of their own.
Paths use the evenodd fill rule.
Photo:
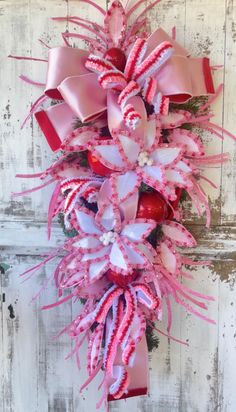
<svg viewBox="0 0 236 412">
<path fill-rule="evenodd" d="M 97 3 L 106 6 L 106 0 Z M 148 1 L 147 1 L 148 3 Z M 34 121 L 20 130 L 27 109 L 39 91 L 18 81 L 19 74 L 43 80 L 45 67 L 36 63 L 12 61 L 10 53 L 46 56 L 38 42 L 61 44 L 60 31 L 66 24 L 51 22 L 51 16 L 79 14 L 99 19 L 90 7 L 78 0 L 2 0 L 1 30 L 1 122 L 0 122 L 0 263 L 11 269 L 1 275 L 1 412 L 84 412 L 95 411 L 97 382 L 84 393 L 79 387 L 85 380 L 74 360 L 65 360 L 71 342 L 65 336 L 52 337 L 70 321 L 76 307 L 41 312 L 52 302 L 54 289 L 31 302 L 53 264 L 39 276 L 21 283 L 19 274 L 38 263 L 41 255 L 53 250 L 63 240 L 55 224 L 50 242 L 46 238 L 46 211 L 50 188 L 22 199 L 10 200 L 11 191 L 35 185 L 37 181 L 16 180 L 15 173 L 33 173 L 50 164 L 53 155 Z M 224 81 L 223 95 L 214 105 L 216 122 L 236 133 L 235 127 L 235 0 L 162 0 L 150 13 L 152 28 L 161 25 L 170 32 L 177 27 L 177 39 L 196 56 L 211 55 L 212 64 L 223 65 L 215 73 L 217 84 Z M 79 44 L 79 43 L 78 43 Z M 83 45 L 84 47 L 84 45 Z M 213 209 L 213 225 L 204 228 L 188 201 L 186 224 L 196 236 L 198 247 L 192 256 L 211 259 L 212 266 L 194 270 L 194 286 L 212 294 L 209 316 L 217 326 L 208 325 L 175 307 L 172 334 L 187 339 L 188 348 L 160 336 L 158 350 L 150 355 L 150 395 L 113 402 L 110 410 L 138 412 L 235 412 L 236 410 L 236 144 L 223 143 L 205 133 L 209 153 L 227 151 L 231 160 L 222 168 L 206 171 L 218 184 L 217 190 L 204 185 Z M 72 313 L 73 310 L 73 313 Z M 85 348 L 84 352 L 85 354 Z M 102 410 L 101 410 L 102 411 Z"/>
</svg>

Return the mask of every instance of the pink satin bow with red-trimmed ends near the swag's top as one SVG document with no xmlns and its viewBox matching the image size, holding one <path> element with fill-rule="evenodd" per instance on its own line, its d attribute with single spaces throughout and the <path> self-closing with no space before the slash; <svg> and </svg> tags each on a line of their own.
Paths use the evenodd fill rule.
<svg viewBox="0 0 236 412">
<path fill-rule="evenodd" d="M 164 30 L 159 28 L 148 38 L 146 56 L 163 41 L 172 43 L 174 55 L 156 75 L 158 90 L 176 103 L 184 103 L 193 96 L 214 94 L 209 59 L 189 57 L 187 50 Z M 88 122 L 97 119 L 108 109 L 109 127 L 115 128 L 122 124 L 120 109 L 116 104 L 118 94 L 111 98 L 111 92 L 99 85 L 97 74 L 85 68 L 88 55 L 87 51 L 71 47 L 49 50 L 45 94 L 63 100 L 64 104 L 37 112 L 36 119 L 53 151 L 60 148 L 61 142 L 73 128 L 76 117 Z M 137 99 L 141 101 L 141 98 Z"/>
</svg>

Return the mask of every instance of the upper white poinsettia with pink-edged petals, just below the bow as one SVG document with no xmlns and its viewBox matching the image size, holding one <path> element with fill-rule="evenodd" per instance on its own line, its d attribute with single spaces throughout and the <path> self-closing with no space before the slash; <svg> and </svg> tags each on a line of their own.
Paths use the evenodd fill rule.
<svg viewBox="0 0 236 412">
<path fill-rule="evenodd" d="M 146 122 L 143 138 L 127 131 L 113 131 L 112 140 L 100 140 L 91 147 L 94 155 L 114 173 L 110 177 L 116 200 L 124 201 L 146 183 L 168 200 L 176 197 L 175 188 L 190 188 L 193 167 L 184 158 L 179 143 L 160 143 L 161 128 L 156 118 Z"/>
</svg>

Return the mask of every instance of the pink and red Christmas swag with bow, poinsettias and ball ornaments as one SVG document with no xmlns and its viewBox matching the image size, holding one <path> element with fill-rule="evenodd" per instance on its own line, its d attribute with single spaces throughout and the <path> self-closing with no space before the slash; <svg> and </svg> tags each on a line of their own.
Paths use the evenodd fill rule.
<svg viewBox="0 0 236 412">
<path fill-rule="evenodd" d="M 158 28 L 149 33 L 144 0 L 132 7 L 113 1 L 107 11 L 98 2 L 80 0 L 103 17 L 103 25 L 77 16 L 56 17 L 78 31 L 64 32 L 64 46 L 49 48 L 45 84 L 34 114 L 58 159 L 38 177 L 54 185 L 48 208 L 59 218 L 64 245 L 26 273 L 58 258 L 54 272 L 58 301 L 81 301 L 81 311 L 61 333 L 74 342 L 71 353 L 88 341 L 86 387 L 103 373 L 99 408 L 114 399 L 147 393 L 148 347 L 153 331 L 171 336 L 172 304 L 210 322 L 204 314 L 211 296 L 182 283 L 191 279 L 186 265 L 205 265 L 182 255 L 196 241 L 181 223 L 181 196 L 192 200 L 210 226 L 202 170 L 221 165 L 227 154 L 206 155 L 199 129 L 234 138 L 212 122 L 215 91 L 207 57 L 195 58 Z M 134 18 L 134 16 L 136 16 Z M 88 35 L 80 34 L 86 29 Z M 88 50 L 72 47 L 85 40 Z M 48 102 L 51 102 L 49 105 Z M 25 124 L 24 122 L 24 124 Z M 24 125 L 23 124 L 23 125 Z M 167 310 L 166 333 L 157 326 Z"/>
</svg>

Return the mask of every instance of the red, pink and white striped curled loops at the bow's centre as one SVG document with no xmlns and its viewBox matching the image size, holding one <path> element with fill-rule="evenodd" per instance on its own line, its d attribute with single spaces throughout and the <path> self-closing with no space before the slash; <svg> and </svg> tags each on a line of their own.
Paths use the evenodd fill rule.
<svg viewBox="0 0 236 412">
<path fill-rule="evenodd" d="M 167 41 L 162 42 L 142 62 L 146 51 L 146 40 L 138 38 L 129 53 L 124 73 L 99 56 L 90 55 L 85 63 L 87 69 L 99 74 L 98 81 L 104 89 L 120 92 L 118 104 L 126 125 L 131 129 L 139 126 L 141 116 L 129 100 L 141 90 L 143 98 L 153 104 L 155 113 L 168 113 L 169 100 L 157 93 L 157 83 L 152 75 L 170 58 L 173 47 Z"/>
</svg>

